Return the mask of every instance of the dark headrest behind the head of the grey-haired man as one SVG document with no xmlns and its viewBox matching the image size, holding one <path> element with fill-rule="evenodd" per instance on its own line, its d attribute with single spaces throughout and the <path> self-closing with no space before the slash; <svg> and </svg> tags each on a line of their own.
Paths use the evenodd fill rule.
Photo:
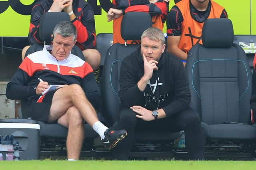
<svg viewBox="0 0 256 170">
<path fill-rule="evenodd" d="M 51 43 L 51 35 L 54 27 L 60 21 L 70 21 L 66 12 L 46 12 L 42 15 L 39 27 L 39 37 L 46 43 Z"/>
</svg>

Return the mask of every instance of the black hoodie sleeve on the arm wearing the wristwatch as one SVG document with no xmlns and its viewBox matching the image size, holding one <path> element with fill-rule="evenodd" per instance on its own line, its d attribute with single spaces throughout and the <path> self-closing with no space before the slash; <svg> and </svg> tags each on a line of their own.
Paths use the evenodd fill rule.
<svg viewBox="0 0 256 170">
<path fill-rule="evenodd" d="M 178 65 L 178 66 L 174 66 Z M 166 116 L 173 116 L 190 106 L 190 89 L 186 78 L 186 70 L 181 61 L 171 61 L 170 71 L 172 72 L 175 99 L 163 107 Z"/>
</svg>

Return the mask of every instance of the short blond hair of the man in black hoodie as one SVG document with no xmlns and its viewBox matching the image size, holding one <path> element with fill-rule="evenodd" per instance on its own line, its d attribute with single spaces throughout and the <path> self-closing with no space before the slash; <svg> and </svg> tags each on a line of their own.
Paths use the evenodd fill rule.
<svg viewBox="0 0 256 170">
<path fill-rule="evenodd" d="M 164 33 L 156 27 L 150 27 L 150 28 L 146 29 L 142 33 L 140 39 L 142 40 L 145 37 L 147 37 L 148 39 L 153 40 L 153 41 L 161 41 L 162 45 L 164 45 L 164 42 L 165 42 Z"/>
</svg>

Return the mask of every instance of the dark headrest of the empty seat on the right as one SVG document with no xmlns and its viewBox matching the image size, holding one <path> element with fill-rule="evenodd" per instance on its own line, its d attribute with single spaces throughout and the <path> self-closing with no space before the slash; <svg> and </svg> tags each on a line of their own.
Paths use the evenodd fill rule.
<svg viewBox="0 0 256 170">
<path fill-rule="evenodd" d="M 204 47 L 230 47 L 233 39 L 234 31 L 231 20 L 212 18 L 204 22 L 202 29 Z"/>
</svg>

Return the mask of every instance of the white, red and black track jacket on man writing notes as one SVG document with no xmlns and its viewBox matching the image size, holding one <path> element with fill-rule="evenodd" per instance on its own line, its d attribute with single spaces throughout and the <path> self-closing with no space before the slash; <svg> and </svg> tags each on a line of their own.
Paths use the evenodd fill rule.
<svg viewBox="0 0 256 170">
<path fill-rule="evenodd" d="M 76 55 L 70 54 L 67 59 L 57 61 L 47 50 L 52 45 L 46 45 L 42 51 L 28 55 L 20 64 L 18 70 L 7 84 L 8 99 L 28 99 L 37 102 L 40 95 L 36 94 L 38 78 L 52 85 L 79 84 L 88 100 L 95 108 L 101 106 L 101 96 L 95 81 L 92 67 Z"/>
</svg>

